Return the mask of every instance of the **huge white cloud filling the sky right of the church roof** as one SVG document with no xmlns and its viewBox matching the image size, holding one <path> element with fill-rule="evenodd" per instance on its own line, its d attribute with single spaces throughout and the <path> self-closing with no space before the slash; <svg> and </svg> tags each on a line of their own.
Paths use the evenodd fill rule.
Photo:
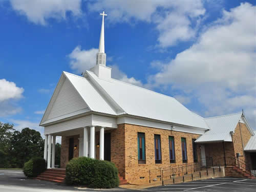
<svg viewBox="0 0 256 192">
<path fill-rule="evenodd" d="M 206 116 L 244 108 L 250 112 L 247 118 L 255 119 L 255 12 L 256 7 L 248 3 L 224 10 L 193 46 L 170 62 L 155 61 L 153 66 L 161 70 L 148 78 L 148 86 L 169 86 L 198 99 Z M 255 120 L 252 123 L 256 127 Z"/>
</svg>

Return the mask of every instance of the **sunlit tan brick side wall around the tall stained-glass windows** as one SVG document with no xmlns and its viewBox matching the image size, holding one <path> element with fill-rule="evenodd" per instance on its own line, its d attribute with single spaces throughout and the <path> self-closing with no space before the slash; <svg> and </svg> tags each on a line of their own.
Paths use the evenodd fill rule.
<svg viewBox="0 0 256 192">
<path fill-rule="evenodd" d="M 181 137 L 186 138 L 187 143 L 187 163 L 193 163 L 193 148 L 192 139 L 197 139 L 200 135 L 189 134 L 183 132 L 155 129 L 152 127 L 145 127 L 139 125 L 125 124 L 125 179 L 131 183 L 148 183 L 149 169 L 155 169 L 159 167 L 167 167 L 169 162 L 169 141 L 168 136 L 174 136 L 175 139 L 175 156 L 176 164 L 182 164 L 181 154 Z M 145 154 L 146 164 L 138 164 L 138 145 L 137 145 L 137 133 L 145 133 Z M 155 163 L 155 146 L 154 146 L 154 134 L 161 136 L 161 154 L 162 164 Z M 200 158 L 200 154 L 198 154 Z M 140 179 L 145 177 L 145 179 Z"/>
</svg>

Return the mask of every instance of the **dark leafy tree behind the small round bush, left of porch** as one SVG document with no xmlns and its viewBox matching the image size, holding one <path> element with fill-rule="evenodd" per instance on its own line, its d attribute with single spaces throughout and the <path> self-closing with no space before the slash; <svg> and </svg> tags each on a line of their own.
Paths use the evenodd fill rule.
<svg viewBox="0 0 256 192">
<path fill-rule="evenodd" d="M 39 132 L 28 127 L 21 132 L 13 132 L 10 155 L 12 167 L 22 168 L 32 157 L 43 157 L 44 140 Z"/>
</svg>

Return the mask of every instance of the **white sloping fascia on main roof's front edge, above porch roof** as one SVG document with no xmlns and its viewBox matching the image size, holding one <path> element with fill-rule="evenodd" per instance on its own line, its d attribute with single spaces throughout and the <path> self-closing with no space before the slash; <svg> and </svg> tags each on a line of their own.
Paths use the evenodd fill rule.
<svg viewBox="0 0 256 192">
<path fill-rule="evenodd" d="M 93 85 L 95 86 L 95 88 L 101 93 L 101 95 L 103 95 L 106 100 L 108 100 L 111 104 L 111 106 L 114 106 L 114 109 L 116 110 L 117 114 L 120 113 L 124 113 L 123 109 L 121 108 L 121 106 L 119 106 L 115 100 L 100 86 L 100 84 L 92 77 L 92 75 L 89 71 L 86 71 L 88 76 L 89 76 L 89 80 L 93 83 Z M 88 78 L 88 77 L 86 77 Z"/>
</svg>

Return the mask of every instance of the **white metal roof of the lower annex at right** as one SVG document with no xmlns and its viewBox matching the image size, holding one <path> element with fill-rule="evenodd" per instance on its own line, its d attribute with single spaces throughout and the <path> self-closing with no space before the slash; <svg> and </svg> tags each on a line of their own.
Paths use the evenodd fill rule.
<svg viewBox="0 0 256 192">
<path fill-rule="evenodd" d="M 196 142 L 232 141 L 230 132 L 236 129 L 242 113 L 205 118 L 210 130 L 199 137 Z"/>
</svg>

